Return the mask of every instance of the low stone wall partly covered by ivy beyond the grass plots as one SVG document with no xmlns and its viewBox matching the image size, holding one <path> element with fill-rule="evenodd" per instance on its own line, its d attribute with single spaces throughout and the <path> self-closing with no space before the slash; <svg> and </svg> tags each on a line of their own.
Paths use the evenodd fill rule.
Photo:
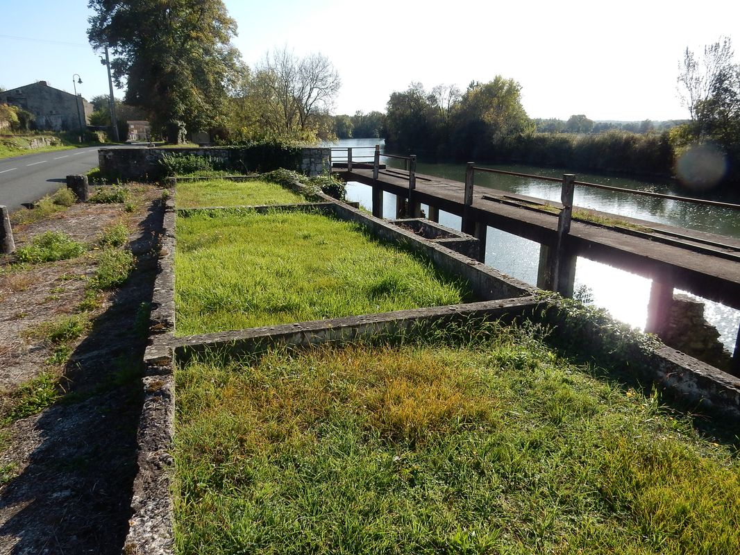
<svg viewBox="0 0 740 555">
<path fill-rule="evenodd" d="M 311 176 L 328 172 L 330 152 L 331 149 L 328 148 L 303 148 L 300 157 L 295 162 L 295 167 L 286 169 L 293 169 Z M 250 160 L 249 149 L 238 147 L 100 149 L 98 150 L 98 165 L 101 172 L 107 175 L 115 175 L 127 180 L 156 180 L 164 177 L 159 161 L 165 154 L 211 158 L 217 166 L 240 173 L 246 173 L 250 167 L 259 168 L 260 171 L 277 169 L 261 166 L 260 161 L 256 159 Z"/>
</svg>

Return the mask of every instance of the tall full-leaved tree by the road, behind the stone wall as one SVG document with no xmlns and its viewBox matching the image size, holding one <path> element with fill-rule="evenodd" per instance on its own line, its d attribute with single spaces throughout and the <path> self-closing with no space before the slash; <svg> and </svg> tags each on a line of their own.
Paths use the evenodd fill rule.
<svg viewBox="0 0 740 555">
<path fill-rule="evenodd" d="M 230 40 L 236 23 L 221 0 L 90 0 L 87 31 L 95 50 L 108 46 L 127 104 L 155 128 L 181 121 L 190 129 L 223 123 L 241 69 Z"/>
</svg>

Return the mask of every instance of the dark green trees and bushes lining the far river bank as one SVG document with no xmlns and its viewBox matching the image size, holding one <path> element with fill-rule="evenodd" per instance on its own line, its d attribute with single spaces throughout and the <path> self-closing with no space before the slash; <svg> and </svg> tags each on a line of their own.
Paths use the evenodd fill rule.
<svg viewBox="0 0 740 555">
<path fill-rule="evenodd" d="M 339 138 L 380 136 L 390 152 L 427 159 L 662 177 L 674 175 L 676 159 L 696 140 L 690 121 L 598 122 L 582 114 L 567 121 L 531 119 L 522 107 L 520 90 L 516 81 L 500 75 L 488 83 L 472 82 L 465 92 L 454 86 L 425 90 L 411 84 L 391 94 L 385 114 L 336 116 L 334 130 Z M 730 170 L 725 184 L 736 183 L 737 148 L 721 147 Z"/>
</svg>

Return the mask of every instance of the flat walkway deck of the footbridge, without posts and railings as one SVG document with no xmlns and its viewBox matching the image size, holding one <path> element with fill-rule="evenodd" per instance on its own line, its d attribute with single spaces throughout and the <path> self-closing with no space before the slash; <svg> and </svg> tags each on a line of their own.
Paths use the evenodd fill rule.
<svg viewBox="0 0 740 555">
<path fill-rule="evenodd" d="M 385 169 L 373 180 L 372 169 L 336 168 L 346 181 L 377 185 L 408 195 L 408 172 Z M 460 181 L 416 175 L 414 199 L 445 212 L 462 215 L 465 186 Z M 541 199 L 477 186 L 471 215 L 476 221 L 538 243 L 554 245 L 557 214 L 538 209 Z M 559 206 L 558 203 L 549 203 Z M 573 255 L 607 263 L 645 277 L 673 280 L 678 289 L 740 309 L 740 240 L 660 223 L 625 218 L 594 210 L 620 221 L 649 228 L 649 232 L 573 220 L 568 249 Z"/>
</svg>

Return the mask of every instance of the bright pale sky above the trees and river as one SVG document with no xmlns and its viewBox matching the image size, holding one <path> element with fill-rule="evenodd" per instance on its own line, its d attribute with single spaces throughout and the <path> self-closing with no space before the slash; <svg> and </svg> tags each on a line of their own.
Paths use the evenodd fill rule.
<svg viewBox="0 0 740 555">
<path fill-rule="evenodd" d="M 47 81 L 73 92 L 76 74 L 88 100 L 108 93 L 101 53 L 87 43 L 87 1 L 1 1 L 0 87 Z M 232 42 L 250 67 L 283 47 L 329 58 L 342 80 L 337 114 L 384 111 L 391 92 L 414 81 L 465 90 L 502 75 L 521 85 L 532 118 L 684 119 L 676 76 L 686 47 L 700 52 L 728 36 L 740 62 L 736 0 L 224 4 L 238 24 Z"/>
</svg>

